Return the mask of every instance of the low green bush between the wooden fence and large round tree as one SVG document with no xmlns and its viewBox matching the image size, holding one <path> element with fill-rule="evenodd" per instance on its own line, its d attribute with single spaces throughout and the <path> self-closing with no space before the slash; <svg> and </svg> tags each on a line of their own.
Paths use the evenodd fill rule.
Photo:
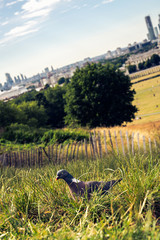
<svg viewBox="0 0 160 240">
<path fill-rule="evenodd" d="M 49 130 L 45 132 L 41 138 L 41 142 L 44 144 L 64 143 L 72 141 L 81 141 L 83 139 L 89 139 L 87 131 L 82 130 Z"/>
</svg>

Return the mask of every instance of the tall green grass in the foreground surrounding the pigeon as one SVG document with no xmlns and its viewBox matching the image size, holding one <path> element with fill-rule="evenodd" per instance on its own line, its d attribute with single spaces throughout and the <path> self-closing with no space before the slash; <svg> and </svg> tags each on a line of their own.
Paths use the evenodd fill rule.
<svg viewBox="0 0 160 240">
<path fill-rule="evenodd" d="M 123 178 L 110 193 L 75 202 L 57 170 L 81 180 Z M 0 239 L 160 239 L 160 162 L 114 156 L 49 165 L 1 168 Z"/>
</svg>

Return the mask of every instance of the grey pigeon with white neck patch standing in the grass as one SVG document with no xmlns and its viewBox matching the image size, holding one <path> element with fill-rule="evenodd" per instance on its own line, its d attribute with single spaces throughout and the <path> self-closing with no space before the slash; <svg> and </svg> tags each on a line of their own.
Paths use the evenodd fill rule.
<svg viewBox="0 0 160 240">
<path fill-rule="evenodd" d="M 112 180 L 108 182 L 83 182 L 74 178 L 65 169 L 57 172 L 56 180 L 58 179 L 63 179 L 68 184 L 71 196 L 74 200 L 76 200 L 76 198 L 79 196 L 87 196 L 87 198 L 90 199 L 94 191 L 100 192 L 101 194 L 107 194 L 109 189 L 122 180 L 122 178 L 120 178 L 118 180 Z"/>
</svg>

